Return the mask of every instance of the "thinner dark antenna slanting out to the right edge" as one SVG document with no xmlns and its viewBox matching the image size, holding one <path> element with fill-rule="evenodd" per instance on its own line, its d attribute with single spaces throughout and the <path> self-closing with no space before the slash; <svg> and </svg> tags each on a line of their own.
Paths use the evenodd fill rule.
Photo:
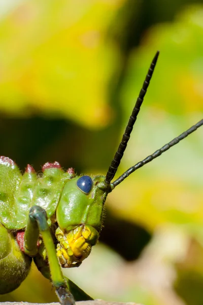
<svg viewBox="0 0 203 305">
<path fill-rule="evenodd" d="M 194 126 L 190 127 L 188 130 L 184 131 L 180 136 L 177 138 L 173 139 L 171 142 L 165 144 L 163 147 L 160 149 L 156 150 L 152 155 L 149 155 L 147 158 L 144 160 L 138 162 L 136 165 L 130 167 L 126 172 L 124 172 L 118 179 L 116 179 L 111 186 L 115 188 L 117 185 L 119 185 L 125 178 L 127 178 L 131 173 L 142 167 L 143 165 L 151 162 L 155 158 L 159 157 L 164 151 L 168 150 L 172 146 L 176 145 L 178 142 L 181 140 L 185 139 L 188 135 L 193 133 L 197 128 L 203 125 L 203 119 L 201 119 L 198 123 L 196 123 Z"/>
</svg>

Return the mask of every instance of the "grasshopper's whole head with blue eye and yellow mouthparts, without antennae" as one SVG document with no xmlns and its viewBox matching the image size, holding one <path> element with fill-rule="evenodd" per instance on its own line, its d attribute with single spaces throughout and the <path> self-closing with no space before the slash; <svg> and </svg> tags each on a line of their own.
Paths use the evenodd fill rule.
<svg viewBox="0 0 203 305">
<path fill-rule="evenodd" d="M 57 256 L 62 267 L 78 266 L 98 240 L 107 192 L 104 176 L 81 176 L 64 185 L 56 221 Z"/>
</svg>

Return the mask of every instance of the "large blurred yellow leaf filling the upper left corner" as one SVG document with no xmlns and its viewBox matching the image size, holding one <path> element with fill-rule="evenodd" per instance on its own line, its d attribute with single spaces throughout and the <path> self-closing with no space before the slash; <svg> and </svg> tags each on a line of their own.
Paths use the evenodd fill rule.
<svg viewBox="0 0 203 305">
<path fill-rule="evenodd" d="M 106 34 L 122 3 L 31 0 L 1 20 L 1 109 L 105 126 L 108 82 L 119 67 Z"/>
</svg>

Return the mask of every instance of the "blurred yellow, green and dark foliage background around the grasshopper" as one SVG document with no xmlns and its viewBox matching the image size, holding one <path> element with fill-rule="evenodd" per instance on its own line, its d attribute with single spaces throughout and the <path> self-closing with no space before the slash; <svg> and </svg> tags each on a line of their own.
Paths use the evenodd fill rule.
<svg viewBox="0 0 203 305">
<path fill-rule="evenodd" d="M 105 174 L 156 50 L 117 173 L 203 111 L 203 2 L 0 0 L 0 155 Z M 132 174 L 106 202 L 100 242 L 64 270 L 94 298 L 202 305 L 203 129 Z M 1 301 L 57 301 L 32 266 Z"/>
</svg>

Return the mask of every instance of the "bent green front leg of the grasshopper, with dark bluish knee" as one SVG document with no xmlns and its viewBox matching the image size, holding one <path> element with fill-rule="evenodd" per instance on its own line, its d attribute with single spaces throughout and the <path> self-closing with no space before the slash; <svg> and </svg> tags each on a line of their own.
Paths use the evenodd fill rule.
<svg viewBox="0 0 203 305">
<path fill-rule="evenodd" d="M 34 205 L 30 208 L 24 235 L 25 253 L 27 255 L 35 256 L 37 254 L 37 240 L 39 234 L 42 235 L 47 251 L 51 280 L 56 289 L 56 294 L 60 303 L 62 305 L 74 305 L 74 297 L 67 288 L 67 283 L 63 278 L 58 258 L 56 256 L 56 249 L 47 223 L 46 211 L 42 207 Z"/>
</svg>

